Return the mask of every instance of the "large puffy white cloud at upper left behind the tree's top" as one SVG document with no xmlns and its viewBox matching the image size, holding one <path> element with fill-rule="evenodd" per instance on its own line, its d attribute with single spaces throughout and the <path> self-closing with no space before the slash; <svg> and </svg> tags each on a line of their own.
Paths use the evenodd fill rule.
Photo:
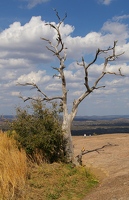
<svg viewBox="0 0 129 200">
<path fill-rule="evenodd" d="M 62 24 L 62 35 L 67 37 L 73 27 Z M 52 54 L 46 50 L 46 43 L 41 37 L 54 41 L 55 31 L 46 26 L 41 17 L 32 17 L 25 25 L 14 22 L 8 29 L 0 33 L 0 48 L 3 56 L 16 59 L 27 59 L 31 63 L 48 62 Z M 54 59 L 54 58 L 53 58 Z"/>
</svg>

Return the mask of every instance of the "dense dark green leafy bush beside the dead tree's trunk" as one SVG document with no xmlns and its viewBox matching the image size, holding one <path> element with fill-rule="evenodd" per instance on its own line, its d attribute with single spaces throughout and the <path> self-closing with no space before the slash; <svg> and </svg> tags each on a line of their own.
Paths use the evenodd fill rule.
<svg viewBox="0 0 129 200">
<path fill-rule="evenodd" d="M 11 124 L 11 134 L 19 147 L 37 163 L 64 161 L 65 141 L 56 104 L 46 108 L 41 101 L 35 101 L 30 108 L 17 108 L 17 117 Z"/>
</svg>

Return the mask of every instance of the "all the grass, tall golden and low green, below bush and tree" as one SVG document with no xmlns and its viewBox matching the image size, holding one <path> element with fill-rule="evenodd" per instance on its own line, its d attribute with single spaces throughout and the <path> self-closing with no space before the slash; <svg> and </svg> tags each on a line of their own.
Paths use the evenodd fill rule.
<svg viewBox="0 0 129 200">
<path fill-rule="evenodd" d="M 82 200 L 98 180 L 85 167 L 37 165 L 6 133 L 0 133 L 1 200 Z"/>
</svg>

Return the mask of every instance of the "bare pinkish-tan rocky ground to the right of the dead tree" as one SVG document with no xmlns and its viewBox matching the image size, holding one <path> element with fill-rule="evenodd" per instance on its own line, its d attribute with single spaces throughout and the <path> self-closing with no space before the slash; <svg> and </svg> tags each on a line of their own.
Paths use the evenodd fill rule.
<svg viewBox="0 0 129 200">
<path fill-rule="evenodd" d="M 129 200 L 129 134 L 73 137 L 75 155 L 85 150 L 101 148 L 83 156 L 83 164 L 100 180 L 97 188 L 83 200 Z"/>
</svg>

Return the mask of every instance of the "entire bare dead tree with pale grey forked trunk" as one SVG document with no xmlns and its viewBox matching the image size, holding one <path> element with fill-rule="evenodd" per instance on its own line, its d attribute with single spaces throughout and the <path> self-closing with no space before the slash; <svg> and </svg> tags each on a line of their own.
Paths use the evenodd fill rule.
<svg viewBox="0 0 129 200">
<path fill-rule="evenodd" d="M 48 51 L 52 52 L 52 54 L 54 56 L 56 56 L 59 61 L 59 66 L 53 67 L 53 69 L 57 72 L 57 74 L 54 76 L 59 77 L 59 79 L 61 80 L 62 95 L 49 97 L 49 96 L 47 96 L 47 94 L 45 94 L 43 91 L 41 91 L 41 89 L 35 83 L 25 83 L 25 84 L 20 84 L 20 85 L 23 85 L 23 86 L 29 85 L 29 86 L 32 86 L 33 88 L 37 89 L 37 91 L 40 94 L 42 94 L 42 96 L 43 96 L 42 101 L 50 102 L 53 100 L 60 100 L 60 102 L 61 102 L 60 105 L 61 105 L 62 111 L 63 111 L 62 131 L 64 133 L 64 138 L 67 140 L 67 145 L 66 145 L 67 160 L 68 160 L 68 162 L 75 163 L 76 161 L 75 161 L 75 157 L 74 157 L 74 148 L 73 148 L 72 137 L 71 137 L 71 125 L 72 125 L 74 117 L 76 116 L 78 106 L 94 90 L 98 90 L 100 88 L 105 87 L 105 85 L 98 86 L 98 83 L 105 75 L 114 74 L 114 75 L 123 76 L 121 73 L 121 69 L 118 69 L 117 72 L 111 72 L 111 71 L 107 70 L 107 65 L 109 62 L 115 61 L 124 52 L 122 52 L 120 54 L 116 54 L 117 41 L 114 41 L 114 44 L 112 47 L 109 47 L 107 49 L 98 49 L 96 51 L 94 59 L 89 64 L 86 64 L 83 57 L 82 57 L 81 62 L 77 62 L 77 64 L 82 66 L 84 69 L 85 92 L 82 93 L 77 99 L 75 99 L 73 101 L 72 109 L 71 109 L 71 112 L 69 113 L 68 105 L 67 105 L 68 90 L 67 90 L 67 84 L 66 84 L 66 77 L 64 74 L 64 69 L 66 68 L 65 61 L 67 58 L 67 47 L 65 46 L 65 44 L 63 42 L 61 31 L 60 31 L 61 24 L 64 23 L 64 20 L 66 19 L 67 15 L 65 15 L 65 17 L 61 20 L 58 15 L 58 12 L 56 10 L 55 10 L 55 13 L 59 20 L 58 24 L 55 25 L 53 23 L 47 23 L 46 26 L 50 26 L 52 29 L 54 29 L 56 31 L 56 34 L 57 34 L 56 44 L 53 44 L 52 41 L 47 38 L 41 38 L 41 39 L 43 41 L 47 42 L 48 45 L 46 46 L 46 48 L 48 49 Z M 110 55 L 109 55 L 109 52 L 110 52 Z M 89 85 L 89 74 L 88 74 L 89 68 L 91 65 L 93 65 L 97 61 L 98 56 L 100 54 L 107 54 L 108 56 L 104 60 L 103 70 L 102 70 L 100 76 L 96 79 L 94 84 L 92 86 L 90 86 Z M 24 99 L 24 101 L 27 101 L 30 99 L 34 100 L 32 97 L 28 97 L 28 98 Z"/>
</svg>

